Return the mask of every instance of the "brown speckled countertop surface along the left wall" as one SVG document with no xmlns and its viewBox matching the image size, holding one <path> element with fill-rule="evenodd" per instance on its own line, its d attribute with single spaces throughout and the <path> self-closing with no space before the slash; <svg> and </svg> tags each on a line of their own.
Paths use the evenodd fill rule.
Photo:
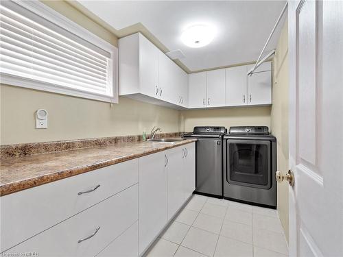
<svg viewBox="0 0 343 257">
<path fill-rule="evenodd" d="M 196 139 L 187 139 L 172 144 L 139 141 L 3 159 L 0 164 L 0 195 L 8 195 L 195 141 Z"/>
</svg>

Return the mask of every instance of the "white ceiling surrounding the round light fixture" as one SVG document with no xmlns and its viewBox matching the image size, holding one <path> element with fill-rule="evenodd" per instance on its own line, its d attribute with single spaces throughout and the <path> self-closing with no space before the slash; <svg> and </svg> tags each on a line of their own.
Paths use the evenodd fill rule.
<svg viewBox="0 0 343 257">
<path fill-rule="evenodd" d="M 90 1 L 79 0 L 89 11 L 120 30 L 142 23 L 170 51 L 180 49 L 180 60 L 191 71 L 228 66 L 257 59 L 285 1 Z M 286 16 L 286 15 L 285 15 Z M 180 40 L 186 27 L 209 23 L 217 36 L 202 48 Z M 267 50 L 276 47 L 282 23 Z"/>
</svg>

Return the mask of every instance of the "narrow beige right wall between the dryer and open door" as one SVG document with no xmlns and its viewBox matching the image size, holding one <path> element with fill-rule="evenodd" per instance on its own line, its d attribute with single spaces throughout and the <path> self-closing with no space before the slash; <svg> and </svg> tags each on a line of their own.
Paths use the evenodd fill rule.
<svg viewBox="0 0 343 257">
<path fill-rule="evenodd" d="M 288 29 L 283 26 L 274 58 L 272 133 L 277 139 L 277 169 L 288 170 Z M 288 241 L 288 184 L 278 184 L 278 211 Z"/>
</svg>

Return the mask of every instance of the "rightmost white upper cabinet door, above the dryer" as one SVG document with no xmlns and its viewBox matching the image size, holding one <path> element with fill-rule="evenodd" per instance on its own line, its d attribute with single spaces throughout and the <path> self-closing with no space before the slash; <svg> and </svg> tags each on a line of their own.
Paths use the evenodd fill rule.
<svg viewBox="0 0 343 257">
<path fill-rule="evenodd" d="M 262 71 L 248 76 L 248 105 L 272 103 L 272 72 Z"/>
</svg>

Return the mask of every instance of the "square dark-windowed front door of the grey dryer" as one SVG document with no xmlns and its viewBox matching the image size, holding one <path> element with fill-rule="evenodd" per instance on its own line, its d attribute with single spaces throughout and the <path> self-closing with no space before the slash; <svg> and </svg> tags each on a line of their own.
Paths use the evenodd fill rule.
<svg viewBox="0 0 343 257">
<path fill-rule="evenodd" d="M 226 141 L 226 181 L 229 184 L 268 189 L 271 180 L 269 140 Z"/>
</svg>

